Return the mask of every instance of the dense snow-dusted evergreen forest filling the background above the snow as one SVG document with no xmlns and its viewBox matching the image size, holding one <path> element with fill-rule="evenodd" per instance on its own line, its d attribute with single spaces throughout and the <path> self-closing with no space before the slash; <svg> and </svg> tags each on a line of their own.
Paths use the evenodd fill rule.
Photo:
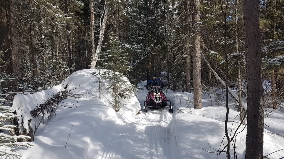
<svg viewBox="0 0 284 159">
<path fill-rule="evenodd" d="M 122 73 L 135 85 L 158 73 L 170 89 L 191 92 L 199 45 L 202 89 L 222 87 L 218 74 L 245 98 L 243 1 L 196 2 L 1 0 L 1 94 L 48 88 L 72 72 L 93 68 L 94 56 L 96 66 L 109 69 L 117 61 L 112 57 L 125 59 Z M 284 86 L 283 6 L 283 0 L 259 1 L 263 81 L 272 88 L 266 93 L 275 108 Z"/>
</svg>

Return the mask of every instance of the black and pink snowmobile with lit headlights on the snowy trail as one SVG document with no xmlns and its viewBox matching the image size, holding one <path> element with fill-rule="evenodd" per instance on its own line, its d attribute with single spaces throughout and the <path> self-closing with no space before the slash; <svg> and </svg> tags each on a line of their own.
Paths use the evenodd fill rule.
<svg viewBox="0 0 284 159">
<path fill-rule="evenodd" d="M 153 81 L 149 85 L 144 85 L 144 87 L 149 90 L 149 93 L 144 101 L 144 105 L 141 108 L 142 113 L 146 113 L 146 108 L 150 109 L 161 109 L 162 107 L 169 107 L 169 112 L 173 112 L 172 103 L 170 100 L 167 100 L 164 90 L 164 83 L 159 81 Z"/>
</svg>

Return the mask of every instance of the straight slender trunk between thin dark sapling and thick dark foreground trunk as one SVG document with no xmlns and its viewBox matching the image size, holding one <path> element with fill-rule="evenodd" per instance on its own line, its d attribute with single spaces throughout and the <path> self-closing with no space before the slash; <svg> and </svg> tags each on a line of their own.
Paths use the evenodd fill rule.
<svg viewBox="0 0 284 159">
<path fill-rule="evenodd" d="M 235 9 L 235 37 L 236 37 L 236 52 L 239 53 L 239 47 L 238 47 L 238 0 L 236 0 L 236 9 Z M 242 83 L 241 83 L 241 64 L 238 61 L 238 90 L 239 90 L 239 111 L 240 111 L 240 121 L 243 119 L 243 105 L 242 105 Z M 243 124 L 243 122 L 241 123 Z"/>
</svg>

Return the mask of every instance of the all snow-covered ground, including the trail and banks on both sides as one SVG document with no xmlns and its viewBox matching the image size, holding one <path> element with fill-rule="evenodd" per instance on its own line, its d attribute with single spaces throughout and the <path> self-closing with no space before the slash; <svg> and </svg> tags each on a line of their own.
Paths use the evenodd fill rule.
<svg viewBox="0 0 284 159">
<path fill-rule="evenodd" d="M 203 94 L 203 108 L 192 109 L 193 94 L 167 90 L 167 98 L 174 104 L 174 113 L 167 109 L 149 110 L 137 114 L 140 103 L 146 99 L 145 82 L 139 83 L 138 93 L 125 99 L 125 107 L 115 112 L 109 107 L 111 93 L 104 90 L 99 98 L 98 84 L 93 75 L 95 70 L 85 69 L 70 75 L 67 90 L 82 97 L 63 100 L 56 116 L 45 121 L 35 133 L 34 147 L 17 149 L 24 159 L 138 159 L 138 158 L 226 158 L 222 150 L 224 139 L 225 107 L 216 107 L 215 99 Z M 78 85 L 80 85 L 78 87 Z M 76 88 L 78 87 L 78 88 Z M 73 90 L 76 88 L 75 90 Z M 223 102 L 223 101 L 222 101 Z M 73 105 L 74 104 L 74 105 Z M 239 112 L 230 105 L 229 134 L 233 136 L 239 124 Z M 269 113 L 271 110 L 266 110 Z M 264 155 L 267 158 L 284 156 L 283 108 L 270 112 L 265 118 Z M 32 126 L 34 125 L 32 122 Z M 269 127 L 268 127 L 269 126 Z M 235 155 L 244 158 L 246 127 L 241 126 L 234 138 Z M 233 147 L 231 146 L 232 155 Z M 211 153 L 209 153 L 211 152 Z"/>
</svg>

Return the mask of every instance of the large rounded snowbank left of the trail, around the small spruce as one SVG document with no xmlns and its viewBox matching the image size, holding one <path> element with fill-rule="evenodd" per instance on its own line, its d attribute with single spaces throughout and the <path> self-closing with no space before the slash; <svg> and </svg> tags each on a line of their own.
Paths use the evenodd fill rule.
<svg viewBox="0 0 284 159">
<path fill-rule="evenodd" d="M 57 107 L 57 116 L 34 136 L 35 146 L 17 150 L 23 159 L 99 158 L 105 153 L 105 141 L 123 123 L 133 120 L 140 109 L 135 95 L 131 95 L 129 101 L 124 99 L 125 107 L 115 112 L 109 106 L 111 92 L 103 90 L 99 98 L 97 79 L 91 74 L 95 71 L 97 69 L 80 70 L 65 80 L 67 90 L 82 96 L 60 103 L 72 108 Z"/>
</svg>

